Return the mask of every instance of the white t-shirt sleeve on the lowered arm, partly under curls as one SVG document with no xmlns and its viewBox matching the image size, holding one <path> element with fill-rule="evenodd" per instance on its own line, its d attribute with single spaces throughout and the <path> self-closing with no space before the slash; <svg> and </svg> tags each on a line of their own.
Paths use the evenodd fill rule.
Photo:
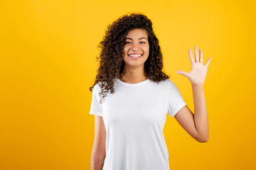
<svg viewBox="0 0 256 170">
<path fill-rule="evenodd" d="M 102 116 L 102 105 L 100 104 L 100 86 L 96 84 L 92 89 L 92 103 L 90 106 L 90 115 Z"/>
</svg>

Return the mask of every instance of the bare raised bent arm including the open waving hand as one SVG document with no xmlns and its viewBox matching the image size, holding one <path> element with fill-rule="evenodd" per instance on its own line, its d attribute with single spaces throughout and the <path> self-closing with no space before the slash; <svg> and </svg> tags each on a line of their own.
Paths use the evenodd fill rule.
<svg viewBox="0 0 256 170">
<path fill-rule="evenodd" d="M 203 65 L 203 51 L 201 50 L 200 62 L 195 47 L 196 62 L 193 59 L 191 50 L 188 50 L 191 59 L 192 70 L 189 73 L 177 71 L 191 81 L 193 91 L 194 113 L 187 106 L 181 108 L 174 116 L 178 123 L 198 142 L 207 142 L 209 138 L 208 115 L 206 110 L 206 99 L 203 91 L 203 84 L 206 79 L 206 72 L 210 59 Z"/>
</svg>

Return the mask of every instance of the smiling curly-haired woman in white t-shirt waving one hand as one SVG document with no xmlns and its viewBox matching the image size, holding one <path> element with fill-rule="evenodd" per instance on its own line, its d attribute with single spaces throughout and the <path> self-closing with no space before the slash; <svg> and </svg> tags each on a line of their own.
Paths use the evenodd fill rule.
<svg viewBox="0 0 256 170">
<path fill-rule="evenodd" d="M 208 141 L 208 115 L 203 84 L 210 58 L 195 47 L 188 50 L 195 114 L 186 106 L 163 69 L 163 57 L 152 23 L 129 13 L 108 26 L 100 42 L 100 67 L 92 91 L 90 114 L 95 115 L 91 169 L 165 170 L 169 153 L 164 140 L 166 113 L 198 142 Z M 93 88 L 93 90 L 92 90 Z"/>
</svg>

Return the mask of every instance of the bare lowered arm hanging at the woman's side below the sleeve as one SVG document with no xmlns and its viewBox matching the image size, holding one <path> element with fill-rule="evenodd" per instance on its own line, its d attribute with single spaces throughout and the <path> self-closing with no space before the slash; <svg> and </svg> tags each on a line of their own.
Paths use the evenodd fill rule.
<svg viewBox="0 0 256 170">
<path fill-rule="evenodd" d="M 102 170 L 106 157 L 106 130 L 102 116 L 95 115 L 95 140 L 92 147 L 90 169 Z"/>
</svg>

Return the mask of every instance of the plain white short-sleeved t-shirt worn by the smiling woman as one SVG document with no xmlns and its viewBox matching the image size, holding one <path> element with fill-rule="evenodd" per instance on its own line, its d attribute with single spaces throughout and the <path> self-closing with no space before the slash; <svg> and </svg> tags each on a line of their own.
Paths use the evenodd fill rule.
<svg viewBox="0 0 256 170">
<path fill-rule="evenodd" d="M 164 140 L 166 114 L 174 117 L 186 106 L 170 79 L 157 84 L 146 79 L 127 84 L 114 79 L 100 104 L 100 86 L 92 91 L 91 115 L 100 115 L 106 128 L 106 157 L 103 170 L 169 170 Z"/>
</svg>

